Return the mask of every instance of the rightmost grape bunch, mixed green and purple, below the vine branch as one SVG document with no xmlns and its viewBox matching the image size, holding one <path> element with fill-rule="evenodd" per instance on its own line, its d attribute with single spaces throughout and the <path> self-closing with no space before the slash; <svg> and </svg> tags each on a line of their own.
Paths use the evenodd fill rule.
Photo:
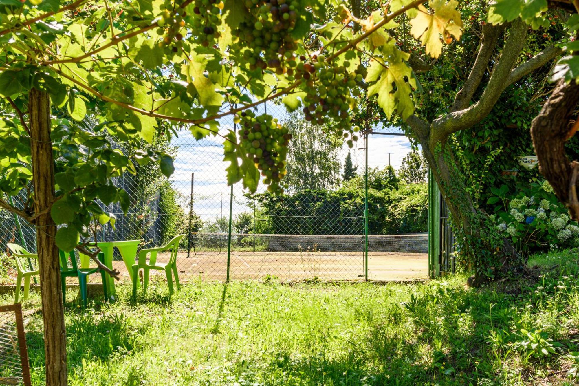
<svg viewBox="0 0 579 386">
<path fill-rule="evenodd" d="M 353 125 L 352 113 L 357 112 L 357 97 L 360 89 L 357 81 L 362 75 L 348 71 L 349 63 L 330 63 L 323 54 L 311 58 L 300 57 L 296 65 L 295 79 L 301 79 L 303 114 L 306 121 L 317 125 L 329 125 L 333 131 L 341 131 L 349 147 L 358 140 L 360 128 Z"/>
</svg>

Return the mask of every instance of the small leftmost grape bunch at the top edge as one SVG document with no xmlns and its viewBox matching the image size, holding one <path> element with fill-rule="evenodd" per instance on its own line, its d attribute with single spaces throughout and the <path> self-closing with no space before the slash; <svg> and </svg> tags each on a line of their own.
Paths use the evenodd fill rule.
<svg viewBox="0 0 579 386">
<path fill-rule="evenodd" d="M 159 42 L 159 47 L 164 48 L 166 53 L 178 52 L 183 45 L 183 34 L 185 30 L 185 20 L 187 16 L 184 8 L 181 8 L 183 0 L 166 0 L 161 6 L 161 15 L 157 20 L 159 30 L 157 34 L 163 36 Z"/>
</svg>

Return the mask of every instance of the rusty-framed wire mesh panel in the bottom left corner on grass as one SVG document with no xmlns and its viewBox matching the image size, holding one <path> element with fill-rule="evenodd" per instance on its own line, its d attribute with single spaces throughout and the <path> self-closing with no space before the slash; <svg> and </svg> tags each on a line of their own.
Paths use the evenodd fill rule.
<svg viewBox="0 0 579 386">
<path fill-rule="evenodd" d="M 0 384 L 31 384 L 20 304 L 0 307 Z"/>
</svg>

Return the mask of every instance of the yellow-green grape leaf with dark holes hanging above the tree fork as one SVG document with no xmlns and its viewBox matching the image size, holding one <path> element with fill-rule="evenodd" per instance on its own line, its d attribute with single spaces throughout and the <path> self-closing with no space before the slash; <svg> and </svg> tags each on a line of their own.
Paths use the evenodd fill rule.
<svg viewBox="0 0 579 386">
<path fill-rule="evenodd" d="M 368 87 L 368 97 L 378 94 L 378 105 L 391 118 L 394 111 L 406 120 L 414 112 L 410 94 L 416 88 L 412 69 L 405 63 L 410 54 L 394 45 L 394 39 L 383 46 L 384 56 L 371 60 L 366 82 L 375 82 Z"/>
</svg>

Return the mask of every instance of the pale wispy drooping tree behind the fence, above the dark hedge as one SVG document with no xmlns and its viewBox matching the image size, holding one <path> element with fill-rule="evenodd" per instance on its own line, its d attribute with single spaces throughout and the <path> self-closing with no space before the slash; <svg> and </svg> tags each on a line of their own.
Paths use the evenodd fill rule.
<svg viewBox="0 0 579 386">
<path fill-rule="evenodd" d="M 342 142 L 329 139 L 323 126 L 307 122 L 298 112 L 285 120 L 285 126 L 292 135 L 284 177 L 290 190 L 326 189 L 338 183 Z"/>
</svg>

